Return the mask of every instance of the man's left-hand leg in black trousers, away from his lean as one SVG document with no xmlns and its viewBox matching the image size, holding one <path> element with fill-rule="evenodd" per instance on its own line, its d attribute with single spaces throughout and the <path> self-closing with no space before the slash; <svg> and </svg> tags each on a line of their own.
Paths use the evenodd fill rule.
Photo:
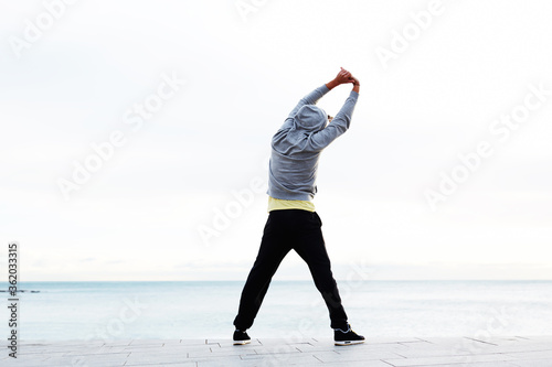
<svg viewBox="0 0 552 367">
<path fill-rule="evenodd" d="M 284 213 L 279 212 L 285 211 L 270 212 L 268 215 L 257 258 L 242 291 L 240 309 L 234 319 L 234 325 L 241 331 L 253 325 L 274 273 L 291 249 L 289 240 L 286 240 L 288 230 L 282 216 Z"/>
</svg>

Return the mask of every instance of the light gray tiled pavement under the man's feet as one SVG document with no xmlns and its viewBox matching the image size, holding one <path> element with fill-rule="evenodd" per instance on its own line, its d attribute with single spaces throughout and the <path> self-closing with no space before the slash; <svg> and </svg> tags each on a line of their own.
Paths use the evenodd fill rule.
<svg viewBox="0 0 552 367">
<path fill-rule="evenodd" d="M 4 342 L 6 343 L 6 342 Z M 352 346 L 329 338 L 132 339 L 21 342 L 18 358 L 0 356 L 0 366 L 454 366 L 552 367 L 552 336 L 379 337 Z"/>
</svg>

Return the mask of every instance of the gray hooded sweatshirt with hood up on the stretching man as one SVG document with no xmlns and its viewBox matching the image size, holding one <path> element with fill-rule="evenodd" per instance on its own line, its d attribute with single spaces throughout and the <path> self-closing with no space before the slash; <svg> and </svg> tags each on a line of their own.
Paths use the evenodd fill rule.
<svg viewBox="0 0 552 367">
<path fill-rule="evenodd" d="M 320 153 L 349 129 L 359 98 L 351 90 L 327 126 L 328 115 L 316 102 L 329 90 L 322 85 L 305 96 L 273 137 L 267 192 L 272 197 L 290 201 L 315 197 Z"/>
</svg>

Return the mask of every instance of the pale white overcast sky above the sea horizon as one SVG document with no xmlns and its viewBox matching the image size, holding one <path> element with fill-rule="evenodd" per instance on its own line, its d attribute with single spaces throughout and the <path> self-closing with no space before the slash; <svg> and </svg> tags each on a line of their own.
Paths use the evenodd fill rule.
<svg viewBox="0 0 552 367">
<path fill-rule="evenodd" d="M 360 98 L 315 198 L 336 278 L 552 278 L 551 2 L 68 2 L 0 1 L 21 279 L 244 280 L 270 138 L 340 66 Z M 290 253 L 275 279 L 309 277 Z"/>
</svg>

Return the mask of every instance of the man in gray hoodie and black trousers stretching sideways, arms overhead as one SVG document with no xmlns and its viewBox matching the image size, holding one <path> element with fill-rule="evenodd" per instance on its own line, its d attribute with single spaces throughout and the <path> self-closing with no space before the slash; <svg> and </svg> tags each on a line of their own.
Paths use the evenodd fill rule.
<svg viewBox="0 0 552 367">
<path fill-rule="evenodd" d="M 336 86 L 347 83 L 352 83 L 353 88 L 332 119 L 316 102 Z M 341 68 L 333 80 L 305 96 L 273 137 L 268 220 L 234 320 L 234 345 L 251 342 L 245 331 L 253 325 L 274 273 L 291 249 L 307 262 L 316 288 L 322 294 L 336 345 L 364 342 L 347 321 L 323 242 L 322 223 L 311 202 L 317 192 L 320 153 L 349 128 L 359 89 L 359 80 Z"/>
</svg>

